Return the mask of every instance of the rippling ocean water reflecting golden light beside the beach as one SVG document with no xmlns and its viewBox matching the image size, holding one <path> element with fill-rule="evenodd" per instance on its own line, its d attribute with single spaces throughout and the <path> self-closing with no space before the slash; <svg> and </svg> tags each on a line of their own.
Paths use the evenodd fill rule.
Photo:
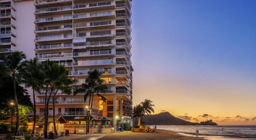
<svg viewBox="0 0 256 140">
<path fill-rule="evenodd" d="M 213 136 L 256 136 L 256 126 L 157 126 L 157 128 L 178 133 L 195 133 L 198 129 L 200 134 Z"/>
</svg>

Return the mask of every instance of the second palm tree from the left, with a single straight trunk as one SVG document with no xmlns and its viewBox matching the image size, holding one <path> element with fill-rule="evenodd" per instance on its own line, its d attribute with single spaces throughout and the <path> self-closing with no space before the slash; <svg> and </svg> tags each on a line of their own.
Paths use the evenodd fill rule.
<svg viewBox="0 0 256 140">
<path fill-rule="evenodd" d="M 41 73 L 42 66 L 38 63 L 38 59 L 30 59 L 28 61 L 28 67 L 26 68 L 26 76 L 23 77 L 23 83 L 26 88 L 33 89 L 33 99 L 34 99 L 34 124 L 32 129 L 32 134 L 35 133 L 36 127 L 36 100 L 35 91 L 40 93 L 40 87 L 43 86 L 44 77 Z"/>
</svg>

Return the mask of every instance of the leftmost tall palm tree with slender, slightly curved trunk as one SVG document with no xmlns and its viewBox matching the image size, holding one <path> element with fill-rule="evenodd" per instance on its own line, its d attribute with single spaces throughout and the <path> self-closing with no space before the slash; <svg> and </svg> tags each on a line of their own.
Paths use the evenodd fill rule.
<svg viewBox="0 0 256 140">
<path fill-rule="evenodd" d="M 22 72 L 24 72 L 24 69 L 27 66 L 27 61 L 25 60 L 26 58 L 26 55 L 22 51 L 13 51 L 9 57 L 0 56 L 0 60 L 4 61 L 5 66 L 9 70 L 10 76 L 13 80 L 14 104 L 16 108 L 16 136 L 19 136 L 20 125 L 19 107 L 16 93 L 16 82 L 20 83 L 21 81 Z"/>
</svg>

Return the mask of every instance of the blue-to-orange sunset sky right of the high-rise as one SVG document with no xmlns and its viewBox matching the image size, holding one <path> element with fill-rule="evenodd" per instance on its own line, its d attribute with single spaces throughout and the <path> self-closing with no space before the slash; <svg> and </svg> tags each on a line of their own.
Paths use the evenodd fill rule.
<svg viewBox="0 0 256 140">
<path fill-rule="evenodd" d="M 155 114 L 256 125 L 256 1 L 132 3 L 133 105 L 148 98 Z"/>
</svg>

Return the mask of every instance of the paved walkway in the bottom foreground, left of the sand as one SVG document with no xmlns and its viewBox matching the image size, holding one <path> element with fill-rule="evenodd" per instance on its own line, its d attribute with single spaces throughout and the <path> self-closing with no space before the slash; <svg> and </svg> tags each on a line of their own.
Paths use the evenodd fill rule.
<svg viewBox="0 0 256 140">
<path fill-rule="evenodd" d="M 56 140 L 96 140 L 105 134 L 70 134 L 69 136 L 59 136 Z"/>
</svg>

